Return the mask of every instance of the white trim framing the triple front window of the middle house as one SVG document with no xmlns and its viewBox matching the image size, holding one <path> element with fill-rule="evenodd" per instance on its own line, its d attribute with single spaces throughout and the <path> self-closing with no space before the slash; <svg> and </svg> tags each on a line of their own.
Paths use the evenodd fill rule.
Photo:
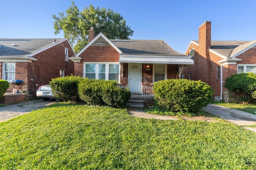
<svg viewBox="0 0 256 170">
<path fill-rule="evenodd" d="M 108 80 L 108 77 L 109 77 L 109 64 L 118 64 L 118 83 L 120 83 L 120 63 L 118 62 L 113 62 L 113 63 L 108 63 L 108 62 L 97 62 L 97 63 L 94 63 L 94 62 L 84 62 L 84 70 L 83 70 L 83 77 L 85 78 L 85 70 L 86 70 L 86 64 L 96 64 L 95 66 L 95 69 L 96 69 L 96 72 L 95 72 L 95 79 L 99 79 L 99 64 L 105 64 L 105 80 Z"/>
</svg>

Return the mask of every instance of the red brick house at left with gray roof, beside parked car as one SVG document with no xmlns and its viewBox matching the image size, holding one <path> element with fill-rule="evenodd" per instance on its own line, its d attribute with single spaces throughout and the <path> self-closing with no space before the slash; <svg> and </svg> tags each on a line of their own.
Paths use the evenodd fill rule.
<svg viewBox="0 0 256 170">
<path fill-rule="evenodd" d="M 73 55 L 72 46 L 64 38 L 0 38 L 0 78 L 10 82 L 9 94 L 14 90 L 12 80 L 22 80 L 20 87 L 25 92 L 6 94 L 4 103 L 30 99 L 36 96 L 38 86 L 49 83 L 52 78 L 74 74 L 74 63 L 68 59 Z"/>
</svg>

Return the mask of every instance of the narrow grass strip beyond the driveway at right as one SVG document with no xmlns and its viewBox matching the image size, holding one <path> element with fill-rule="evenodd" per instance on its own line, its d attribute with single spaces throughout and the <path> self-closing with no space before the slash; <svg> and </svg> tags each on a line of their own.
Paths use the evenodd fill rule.
<svg viewBox="0 0 256 170">
<path fill-rule="evenodd" d="M 243 105 L 243 104 L 236 104 L 236 103 L 223 103 L 223 102 L 216 102 L 216 101 L 212 101 L 212 104 L 216 104 L 218 106 L 224 106 L 224 107 L 230 107 L 233 109 L 238 109 L 241 111 L 245 111 L 247 113 L 252 113 L 254 115 L 256 115 L 256 104 L 247 104 L 247 105 Z"/>
</svg>

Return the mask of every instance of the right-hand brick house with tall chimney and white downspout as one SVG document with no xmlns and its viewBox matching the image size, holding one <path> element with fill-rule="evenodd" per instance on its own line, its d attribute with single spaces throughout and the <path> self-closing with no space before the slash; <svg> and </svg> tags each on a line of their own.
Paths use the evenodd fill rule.
<svg viewBox="0 0 256 170">
<path fill-rule="evenodd" d="M 190 80 L 202 80 L 214 90 L 213 99 L 232 102 L 233 92 L 224 88 L 225 80 L 240 72 L 256 73 L 256 40 L 211 41 L 211 22 L 199 27 L 199 40 L 191 41 L 185 52 L 194 65 L 182 70 L 182 76 Z"/>
</svg>

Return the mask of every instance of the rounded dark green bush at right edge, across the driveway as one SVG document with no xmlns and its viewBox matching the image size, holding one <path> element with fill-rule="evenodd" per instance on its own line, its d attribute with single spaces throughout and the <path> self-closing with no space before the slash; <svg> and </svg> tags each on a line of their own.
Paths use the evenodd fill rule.
<svg viewBox="0 0 256 170">
<path fill-rule="evenodd" d="M 252 99 L 251 95 L 254 96 L 256 90 L 256 74 L 253 72 L 233 74 L 226 78 L 224 87 L 240 93 L 241 100 L 246 105 Z"/>
</svg>

